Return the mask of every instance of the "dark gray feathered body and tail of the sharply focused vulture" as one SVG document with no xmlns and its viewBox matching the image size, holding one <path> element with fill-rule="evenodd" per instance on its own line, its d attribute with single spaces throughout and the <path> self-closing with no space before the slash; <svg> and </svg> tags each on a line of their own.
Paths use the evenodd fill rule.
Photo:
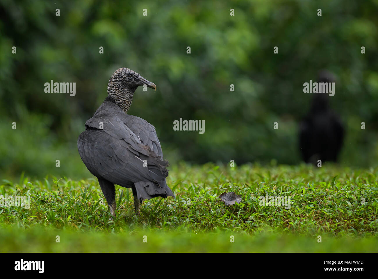
<svg viewBox="0 0 378 279">
<path fill-rule="evenodd" d="M 118 105 L 104 103 L 85 123 L 86 130 L 77 141 L 85 166 L 93 175 L 124 187 L 145 181 L 144 190 L 139 189 L 139 192 L 144 191 L 139 195 L 143 198 L 171 195 L 165 182 L 168 162 L 162 160 L 155 128 L 119 110 Z M 152 190 L 153 185 L 156 190 Z"/>
</svg>

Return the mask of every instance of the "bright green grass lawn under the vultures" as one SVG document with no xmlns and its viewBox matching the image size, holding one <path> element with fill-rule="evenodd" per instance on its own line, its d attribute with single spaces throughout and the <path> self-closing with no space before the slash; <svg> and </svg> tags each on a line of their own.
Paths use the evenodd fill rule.
<svg viewBox="0 0 378 279">
<path fill-rule="evenodd" d="M 378 251 L 378 168 L 170 169 L 176 198 L 145 201 L 136 217 L 132 192 L 118 186 L 114 220 L 95 178 L 3 180 L 0 194 L 29 195 L 30 208 L 0 206 L 0 251 Z M 218 198 L 225 191 L 243 201 L 225 206 Z M 265 195 L 290 196 L 290 209 L 260 206 Z"/>
</svg>

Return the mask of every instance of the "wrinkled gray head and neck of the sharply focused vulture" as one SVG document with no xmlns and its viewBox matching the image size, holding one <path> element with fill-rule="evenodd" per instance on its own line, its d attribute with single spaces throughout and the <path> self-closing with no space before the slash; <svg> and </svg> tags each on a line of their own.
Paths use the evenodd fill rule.
<svg viewBox="0 0 378 279">
<path fill-rule="evenodd" d="M 141 77 L 140 74 L 128 68 L 120 68 L 109 79 L 108 96 L 112 97 L 116 104 L 127 113 L 136 88 L 144 84 L 156 90 L 156 85 Z"/>
</svg>

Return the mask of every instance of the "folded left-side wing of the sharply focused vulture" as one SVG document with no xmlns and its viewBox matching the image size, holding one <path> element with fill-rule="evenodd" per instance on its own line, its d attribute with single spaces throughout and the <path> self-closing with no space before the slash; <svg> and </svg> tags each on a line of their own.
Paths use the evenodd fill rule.
<svg viewBox="0 0 378 279">
<path fill-rule="evenodd" d="M 142 145 L 131 146 L 123 139 L 114 138 L 105 130 L 90 129 L 81 133 L 79 154 L 88 170 L 97 177 L 127 187 L 138 181 L 160 184 L 168 171 L 167 162 L 149 153 Z M 144 160 L 147 167 L 144 167 Z"/>
</svg>

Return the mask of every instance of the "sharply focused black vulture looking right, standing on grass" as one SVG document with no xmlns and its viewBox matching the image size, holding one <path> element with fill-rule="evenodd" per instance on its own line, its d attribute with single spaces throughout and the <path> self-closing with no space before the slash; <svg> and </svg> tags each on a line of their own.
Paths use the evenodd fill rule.
<svg viewBox="0 0 378 279">
<path fill-rule="evenodd" d="M 115 216 L 115 186 L 131 188 L 135 212 L 143 199 L 174 194 L 167 186 L 168 161 L 156 136 L 155 127 L 137 116 L 128 115 L 134 92 L 140 85 L 156 85 L 127 68 L 110 77 L 108 96 L 95 115 L 85 122 L 77 149 L 85 166 L 95 175 Z"/>
</svg>

